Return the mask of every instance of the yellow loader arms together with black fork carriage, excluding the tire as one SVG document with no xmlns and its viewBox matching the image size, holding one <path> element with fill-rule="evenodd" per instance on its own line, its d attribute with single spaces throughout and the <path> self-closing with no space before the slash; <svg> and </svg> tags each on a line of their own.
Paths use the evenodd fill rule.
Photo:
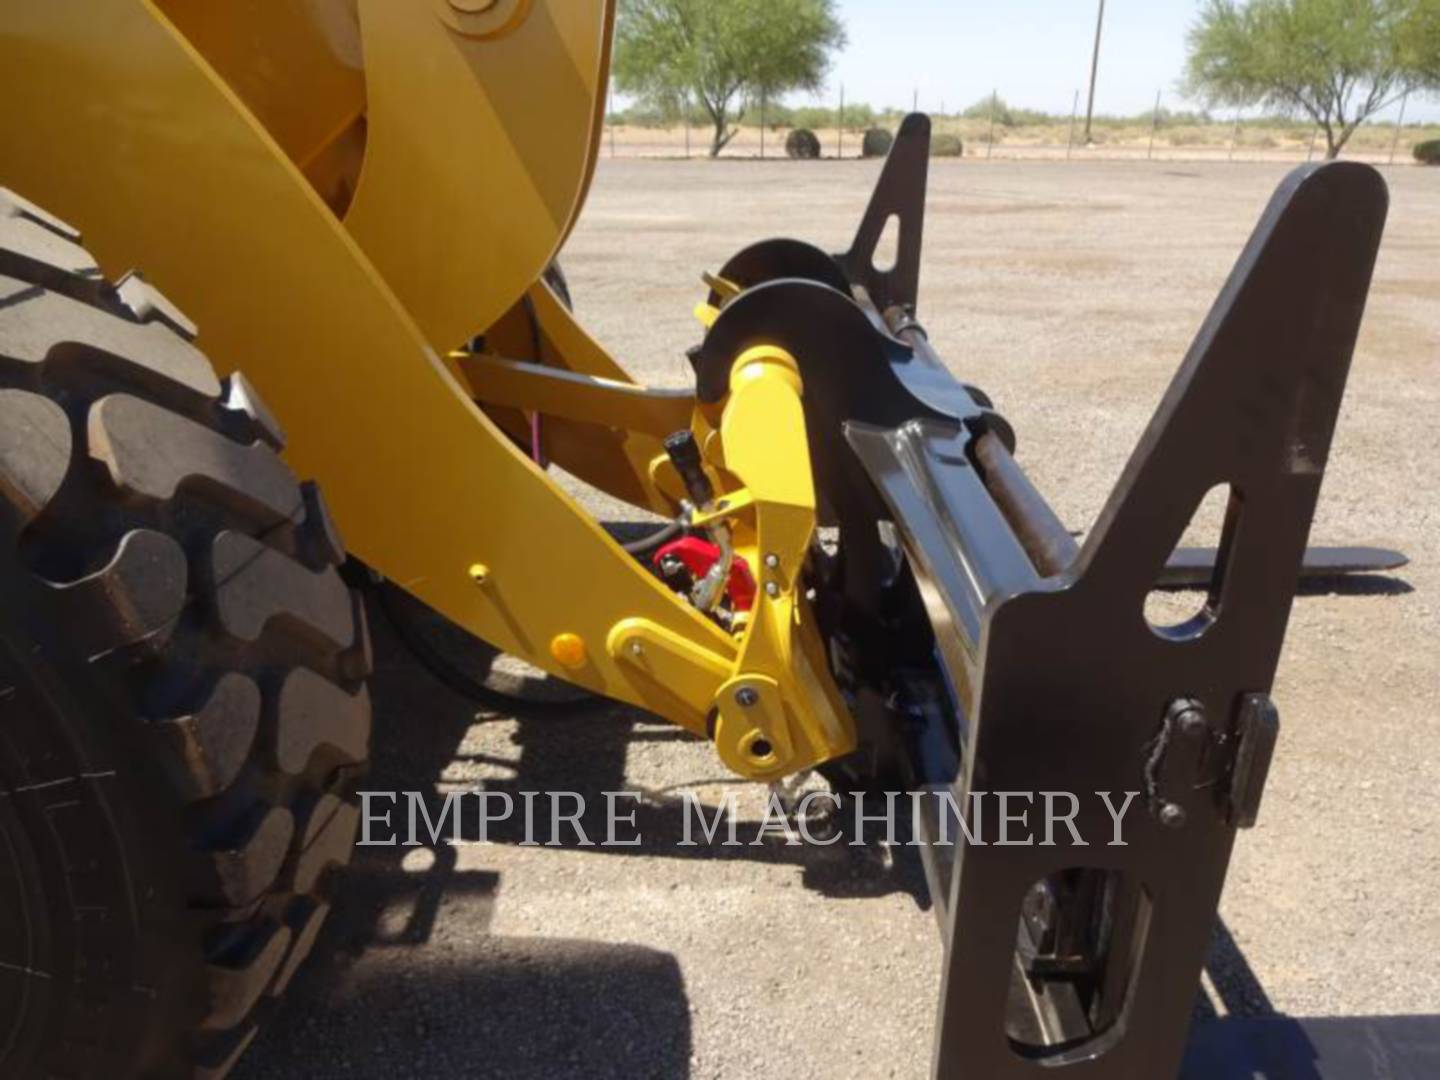
<svg viewBox="0 0 1440 1080">
<path fill-rule="evenodd" d="M 927 822 L 935 1076 L 1175 1074 L 1276 740 L 1269 691 L 1382 181 L 1348 163 L 1286 179 L 1081 544 L 919 323 L 924 117 L 850 252 L 768 240 L 707 278 L 694 392 L 635 384 L 586 336 L 541 271 L 595 168 L 613 17 L 569 0 L 19 6 L 0 63 L 32 94 L 0 102 L 0 183 L 84 225 L 102 264 L 144 265 L 259 386 L 348 550 L 497 648 L 711 737 L 752 779 L 822 766 L 959 806 L 1143 792 L 1126 847 L 955 848 L 936 838 L 956 822 Z M 514 445 L 534 416 L 546 458 L 704 533 L 716 582 L 680 595 L 622 550 Z M 1220 549 L 1171 566 L 1223 484 Z M 1156 583 L 1197 579 L 1195 619 L 1146 621 Z M 1093 811 L 1080 834 L 1109 835 Z"/>
</svg>

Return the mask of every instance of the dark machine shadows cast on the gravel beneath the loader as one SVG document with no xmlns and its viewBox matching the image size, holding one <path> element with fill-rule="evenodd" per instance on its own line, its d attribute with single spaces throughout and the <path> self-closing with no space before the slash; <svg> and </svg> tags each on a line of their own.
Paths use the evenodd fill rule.
<svg viewBox="0 0 1440 1080">
<path fill-rule="evenodd" d="M 423 792 L 438 812 L 446 770 L 456 763 L 485 765 L 484 755 L 462 746 L 484 714 L 435 680 L 374 605 L 370 615 L 376 752 L 364 786 Z M 634 789 L 626 783 L 626 753 L 636 742 L 690 737 L 605 701 L 559 714 L 494 719 L 504 720 L 517 723 L 518 759 L 505 762 L 514 772 L 487 782 L 488 789 L 517 796 L 573 791 L 592 806 L 603 806 L 603 792 Z M 694 783 L 713 789 L 720 780 L 694 778 Z M 672 792 L 645 792 L 636 821 L 644 844 L 596 851 L 619 858 L 793 864 L 806 888 L 829 897 L 899 891 L 929 907 L 923 873 L 903 847 L 677 847 L 685 812 Z M 603 821 L 582 818 L 582 825 L 603 835 Z M 462 835 L 477 840 L 471 825 Z M 753 822 L 743 824 L 740 835 L 752 837 Z M 524 838 L 518 822 L 501 822 L 487 840 Z M 683 1080 L 691 1074 L 691 1009 L 674 955 L 611 942 L 494 935 L 490 920 L 498 888 L 498 873 L 459 867 L 456 848 L 446 844 L 357 850 L 312 960 L 288 992 L 289 1007 L 266 1021 L 235 1077 Z M 441 910 L 456 906 L 467 920 L 465 948 L 436 945 Z M 410 949 L 429 955 L 415 963 L 413 956 L 400 956 Z M 1440 1018 L 1280 1015 L 1223 922 L 1207 971 L 1214 996 L 1202 991 L 1197 998 L 1185 1080 L 1440 1076 Z"/>
</svg>

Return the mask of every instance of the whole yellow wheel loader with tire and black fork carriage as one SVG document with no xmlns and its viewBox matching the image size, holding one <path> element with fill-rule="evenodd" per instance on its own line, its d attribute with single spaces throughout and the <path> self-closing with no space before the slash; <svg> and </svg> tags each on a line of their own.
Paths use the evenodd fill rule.
<svg viewBox="0 0 1440 1080">
<path fill-rule="evenodd" d="M 916 828 L 936 1077 L 1176 1074 L 1277 740 L 1382 180 L 1280 184 L 1081 543 L 923 328 L 923 115 L 848 251 L 697 268 L 690 389 L 586 334 L 547 268 L 613 20 L 0 10 L 4 1077 L 220 1077 L 281 1007 L 369 756 L 346 560 L 739 778 L 952 796 Z M 622 544 L 549 464 L 661 526 Z M 1176 552 L 1217 487 L 1218 549 Z M 1146 618 L 1175 580 L 1200 612 Z M 1136 809 L 1123 844 L 996 845 L 982 791 Z"/>
</svg>

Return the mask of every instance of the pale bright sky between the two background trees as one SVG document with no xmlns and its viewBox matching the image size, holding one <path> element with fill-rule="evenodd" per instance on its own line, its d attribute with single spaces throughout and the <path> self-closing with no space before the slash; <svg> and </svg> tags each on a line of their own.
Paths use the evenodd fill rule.
<svg viewBox="0 0 1440 1080">
<path fill-rule="evenodd" d="M 1099 0 L 840 0 L 850 35 L 819 95 L 909 108 L 965 108 L 991 91 L 1047 112 L 1080 108 L 1090 78 Z M 1200 0 L 1106 0 L 1096 112 L 1197 108 L 1176 86 L 1185 32 Z M 808 95 L 795 95 L 796 104 Z M 1398 107 L 1387 109 L 1392 120 Z M 1440 120 L 1440 102 L 1411 101 L 1407 120 Z"/>
</svg>

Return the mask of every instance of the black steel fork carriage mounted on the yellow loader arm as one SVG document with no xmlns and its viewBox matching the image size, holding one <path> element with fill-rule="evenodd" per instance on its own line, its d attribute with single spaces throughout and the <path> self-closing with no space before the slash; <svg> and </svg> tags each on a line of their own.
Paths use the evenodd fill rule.
<svg viewBox="0 0 1440 1080">
<path fill-rule="evenodd" d="M 740 287 L 693 351 L 801 364 L 822 521 L 816 606 L 878 782 L 1073 792 L 1089 845 L 917 840 L 945 939 L 936 1077 L 1166 1077 L 1179 1070 L 1237 828 L 1274 746 L 1269 701 L 1388 196 L 1361 164 L 1280 184 L 1083 544 L 1034 491 L 991 400 L 916 321 L 929 121 L 901 125 L 855 246 L 737 255 Z M 899 219 L 899 259 L 876 245 Z M 1205 494 L 1230 485 L 1207 603 L 1152 626 L 1145 598 Z M 900 557 L 903 552 L 903 557 Z M 1212 563 L 1212 564 L 1210 564 Z M 1174 576 L 1176 570 L 1171 570 Z M 1125 845 L 1096 792 L 1138 792 Z"/>
</svg>

